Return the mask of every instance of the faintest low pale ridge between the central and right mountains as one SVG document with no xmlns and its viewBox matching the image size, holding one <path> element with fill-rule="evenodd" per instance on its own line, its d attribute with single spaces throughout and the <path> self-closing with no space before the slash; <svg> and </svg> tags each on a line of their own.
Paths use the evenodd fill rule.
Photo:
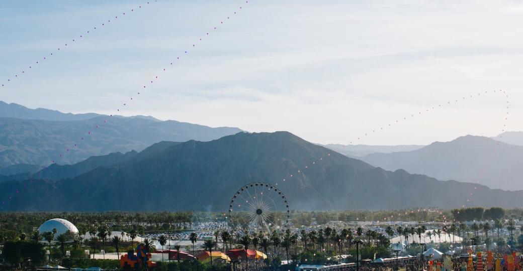
<svg viewBox="0 0 523 271">
<path fill-rule="evenodd" d="M 380 146 L 380 145 L 342 145 L 342 144 L 327 144 L 323 145 L 325 148 L 332 149 L 342 155 L 348 157 L 362 157 L 374 152 L 389 154 L 396 151 L 410 151 L 423 148 L 423 145 L 395 145 L 395 146 Z"/>
</svg>

